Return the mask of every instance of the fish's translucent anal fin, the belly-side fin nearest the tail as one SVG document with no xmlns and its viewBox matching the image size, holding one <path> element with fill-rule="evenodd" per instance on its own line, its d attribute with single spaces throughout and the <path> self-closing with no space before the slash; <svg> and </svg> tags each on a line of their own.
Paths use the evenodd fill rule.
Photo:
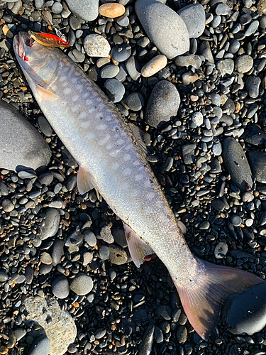
<svg viewBox="0 0 266 355">
<path fill-rule="evenodd" d="M 123 229 L 126 234 L 126 241 L 128 242 L 128 250 L 131 253 L 131 258 L 133 259 L 135 266 L 137 268 L 143 263 L 145 256 L 153 254 L 153 249 L 148 246 L 140 236 L 135 234 L 131 227 L 123 224 Z"/>
</svg>

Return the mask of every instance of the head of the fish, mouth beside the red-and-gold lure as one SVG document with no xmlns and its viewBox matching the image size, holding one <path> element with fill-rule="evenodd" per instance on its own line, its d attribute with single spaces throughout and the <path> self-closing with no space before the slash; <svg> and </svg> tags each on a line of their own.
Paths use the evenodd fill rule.
<svg viewBox="0 0 266 355">
<path fill-rule="evenodd" d="M 27 81 L 31 85 L 48 85 L 54 80 L 58 70 L 55 48 L 38 43 L 27 32 L 19 32 L 13 39 L 13 49 Z"/>
</svg>

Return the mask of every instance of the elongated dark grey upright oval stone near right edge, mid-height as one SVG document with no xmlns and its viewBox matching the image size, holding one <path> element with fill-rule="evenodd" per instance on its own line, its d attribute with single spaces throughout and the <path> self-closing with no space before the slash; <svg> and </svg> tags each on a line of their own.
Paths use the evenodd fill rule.
<svg viewBox="0 0 266 355">
<path fill-rule="evenodd" d="M 234 138 L 223 139 L 223 164 L 231 175 L 233 185 L 242 192 L 253 187 L 252 174 L 248 160 L 240 144 Z"/>
</svg>

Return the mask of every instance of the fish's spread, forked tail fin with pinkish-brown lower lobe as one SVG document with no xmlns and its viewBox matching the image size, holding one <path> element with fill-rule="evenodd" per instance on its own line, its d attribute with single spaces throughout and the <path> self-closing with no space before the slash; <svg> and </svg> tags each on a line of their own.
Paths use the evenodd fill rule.
<svg viewBox="0 0 266 355">
<path fill-rule="evenodd" d="M 176 278 L 172 279 L 190 324 L 202 339 L 207 340 L 214 332 L 223 303 L 231 295 L 243 293 L 264 281 L 243 270 L 197 261 L 199 278 L 188 287 L 180 287 Z"/>
</svg>

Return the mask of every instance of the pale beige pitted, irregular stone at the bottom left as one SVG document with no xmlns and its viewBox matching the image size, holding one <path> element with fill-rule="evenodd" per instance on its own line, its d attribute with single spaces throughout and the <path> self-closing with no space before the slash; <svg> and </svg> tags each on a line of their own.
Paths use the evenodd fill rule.
<svg viewBox="0 0 266 355">
<path fill-rule="evenodd" d="M 37 322 L 40 334 L 46 334 L 50 342 L 50 355 L 64 355 L 69 344 L 74 342 L 77 328 L 74 320 L 66 310 L 62 311 L 59 303 L 54 298 L 27 297 L 24 301 L 27 315 L 26 322 Z M 44 312 L 45 310 L 45 312 Z M 47 322 L 50 317 L 51 322 Z"/>
</svg>

